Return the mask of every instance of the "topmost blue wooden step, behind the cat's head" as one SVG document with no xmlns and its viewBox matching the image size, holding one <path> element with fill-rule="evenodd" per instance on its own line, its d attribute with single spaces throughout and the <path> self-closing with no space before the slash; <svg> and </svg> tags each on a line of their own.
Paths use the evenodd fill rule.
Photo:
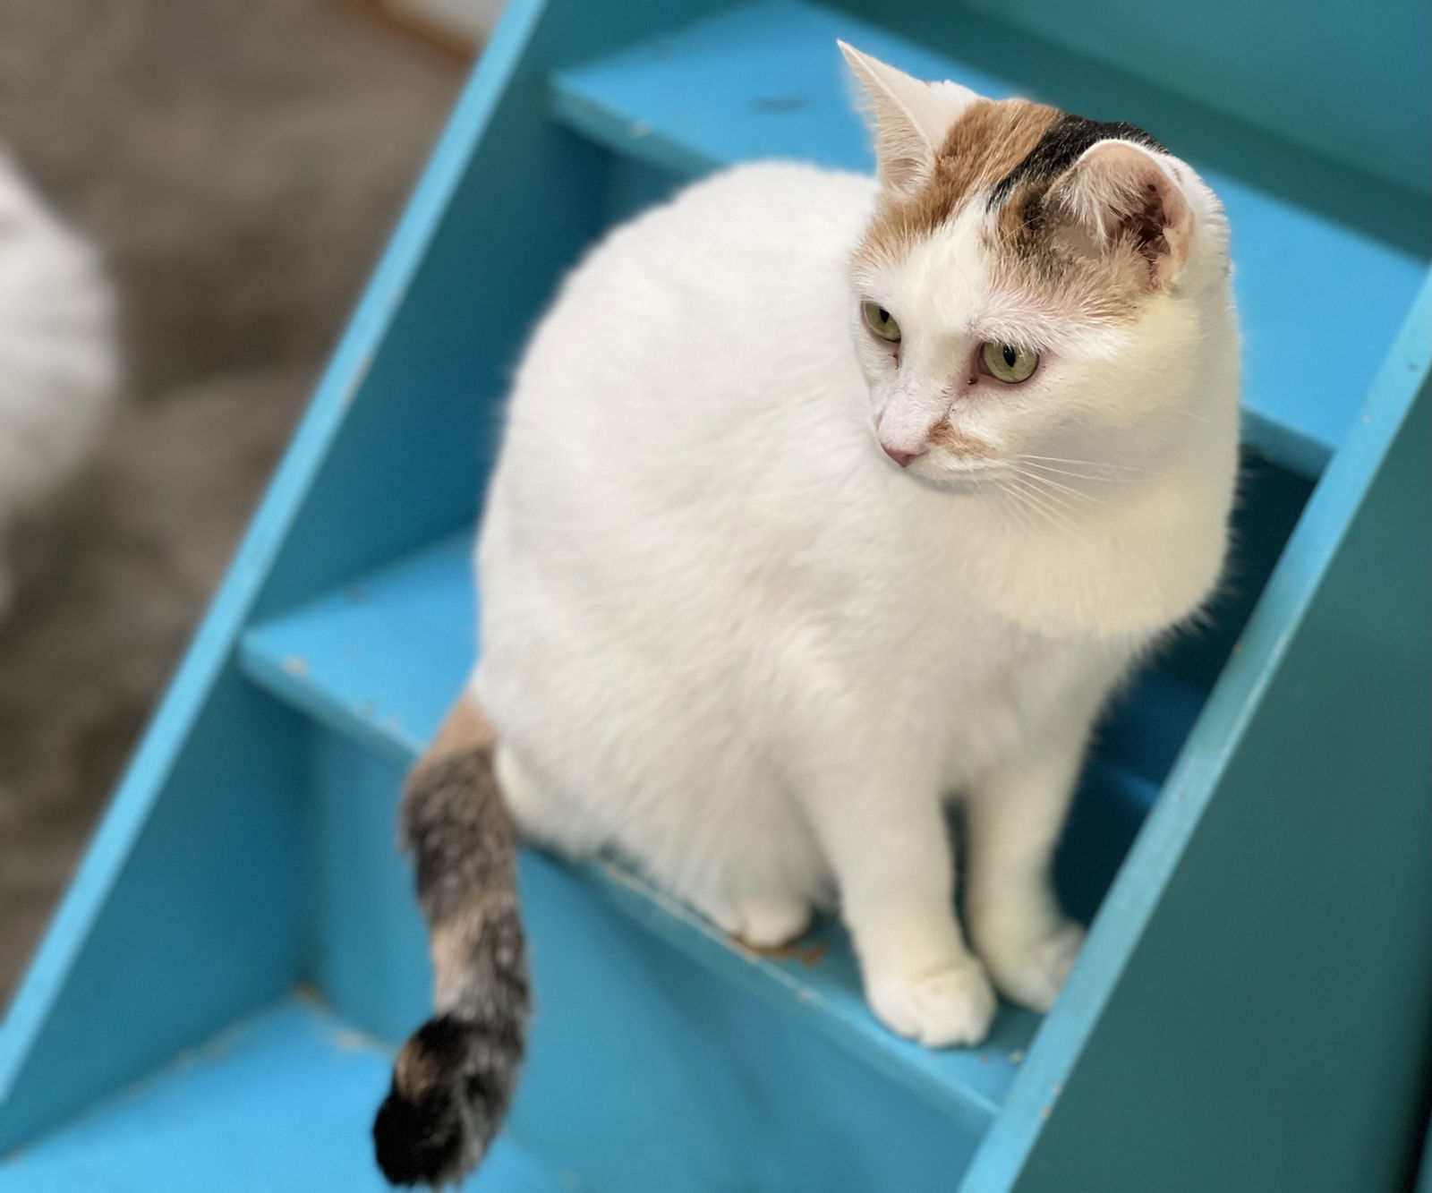
<svg viewBox="0 0 1432 1193">
<path fill-rule="evenodd" d="M 841 37 L 916 77 L 1144 123 L 1229 211 L 1246 438 L 1316 475 L 1425 276 L 1425 239 L 1408 239 L 1425 238 L 1422 201 L 972 11 L 954 36 L 962 50 L 949 56 L 811 4 L 746 4 L 557 72 L 551 106 L 584 136 L 680 176 L 755 158 L 869 170 Z"/>
</svg>

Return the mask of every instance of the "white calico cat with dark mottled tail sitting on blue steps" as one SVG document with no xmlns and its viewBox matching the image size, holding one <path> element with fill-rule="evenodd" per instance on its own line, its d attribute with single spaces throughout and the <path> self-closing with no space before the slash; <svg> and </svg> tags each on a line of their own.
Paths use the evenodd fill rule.
<svg viewBox="0 0 1432 1193">
<path fill-rule="evenodd" d="M 1226 219 L 1131 125 L 842 50 L 876 178 L 686 189 L 518 370 L 481 659 L 404 801 L 438 1015 L 375 1123 L 392 1179 L 471 1163 L 513 1088 L 514 825 L 758 947 L 836 905 L 874 1014 L 929 1047 L 982 1040 L 995 991 L 1047 1011 L 1080 948 L 1050 858 L 1091 726 L 1223 569 Z"/>
</svg>

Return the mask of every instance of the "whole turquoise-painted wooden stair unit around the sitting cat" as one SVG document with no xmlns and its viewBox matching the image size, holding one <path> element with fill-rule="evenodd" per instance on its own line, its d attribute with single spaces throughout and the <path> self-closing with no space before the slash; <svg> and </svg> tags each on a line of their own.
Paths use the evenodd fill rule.
<svg viewBox="0 0 1432 1193">
<path fill-rule="evenodd" d="M 1133 119 L 1213 180 L 1247 334 L 1237 583 L 1111 713 L 1057 865 L 1088 947 L 982 1048 L 885 1033 L 835 924 L 755 955 L 621 866 L 524 856 L 531 1060 L 470 1187 L 1413 1180 L 1428 11 L 511 0 L 7 1013 L 0 1193 L 381 1187 L 368 1120 L 430 990 L 394 806 L 477 649 L 468 544 L 523 329 L 684 179 L 866 168 L 836 36 Z"/>
</svg>

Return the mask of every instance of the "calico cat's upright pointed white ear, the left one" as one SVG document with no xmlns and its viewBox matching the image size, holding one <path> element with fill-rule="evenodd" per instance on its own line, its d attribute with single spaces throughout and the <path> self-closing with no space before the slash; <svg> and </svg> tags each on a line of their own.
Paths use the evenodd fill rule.
<svg viewBox="0 0 1432 1193">
<path fill-rule="evenodd" d="M 922 83 L 845 42 L 836 44 L 863 93 L 881 185 L 918 189 L 934 172 L 951 126 L 979 96 L 958 83 Z"/>
</svg>

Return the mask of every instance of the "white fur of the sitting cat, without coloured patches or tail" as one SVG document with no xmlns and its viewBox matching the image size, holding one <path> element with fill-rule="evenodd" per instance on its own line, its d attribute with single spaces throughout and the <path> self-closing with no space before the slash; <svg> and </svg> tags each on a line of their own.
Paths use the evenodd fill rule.
<svg viewBox="0 0 1432 1193">
<path fill-rule="evenodd" d="M 951 384 L 1021 317 L 978 216 L 853 284 L 876 196 L 853 175 L 742 166 L 616 229 L 526 355 L 478 547 L 474 690 L 521 828 L 616 848 L 756 944 L 839 898 L 876 1014 L 928 1044 L 984 1035 L 987 970 L 1047 1008 L 1090 726 L 1223 559 L 1236 344 L 1216 201 L 1186 192 L 1181 286 L 1131 327 L 1025 315 L 1051 358 L 1004 391 Z M 899 314 L 899 370 L 863 298 Z M 997 455 L 902 471 L 876 415 Z M 1045 460 L 1021 504 L 1021 454 L 1088 463 Z"/>
</svg>

